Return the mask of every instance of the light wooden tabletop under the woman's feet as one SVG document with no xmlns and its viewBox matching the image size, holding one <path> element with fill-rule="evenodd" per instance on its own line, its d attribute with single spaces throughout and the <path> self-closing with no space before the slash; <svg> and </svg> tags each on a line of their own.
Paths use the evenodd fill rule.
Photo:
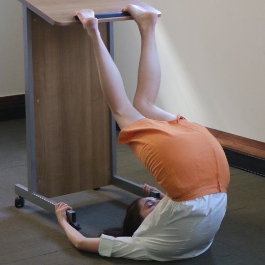
<svg viewBox="0 0 265 265">
<path fill-rule="evenodd" d="M 95 14 L 117 13 L 127 4 L 136 4 L 147 10 L 160 12 L 140 0 L 19 0 L 34 13 L 52 25 L 68 26 L 79 24 L 73 16 L 81 9 L 92 9 Z M 99 19 L 99 22 L 130 20 L 132 17 Z"/>
</svg>

